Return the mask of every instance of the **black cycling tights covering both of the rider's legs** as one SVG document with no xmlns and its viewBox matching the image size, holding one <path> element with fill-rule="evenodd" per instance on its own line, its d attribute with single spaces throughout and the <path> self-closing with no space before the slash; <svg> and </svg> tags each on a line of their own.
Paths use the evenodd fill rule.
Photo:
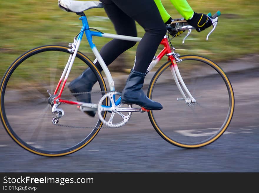
<svg viewBox="0 0 259 193">
<path fill-rule="evenodd" d="M 160 41 L 165 36 L 166 27 L 153 0 L 100 0 L 104 4 L 109 19 L 119 35 L 137 36 L 137 21 L 145 30 L 136 51 L 134 70 L 145 73 L 152 61 Z M 100 50 L 108 66 L 120 54 L 133 47 L 136 42 L 113 39 Z M 99 62 L 96 66 L 101 70 Z"/>
</svg>

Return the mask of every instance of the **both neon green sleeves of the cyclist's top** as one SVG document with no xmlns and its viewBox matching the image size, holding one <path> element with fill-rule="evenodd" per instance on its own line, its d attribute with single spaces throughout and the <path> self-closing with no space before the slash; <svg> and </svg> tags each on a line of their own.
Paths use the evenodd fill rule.
<svg viewBox="0 0 259 193">
<path fill-rule="evenodd" d="M 170 18 L 170 15 L 165 10 L 161 0 L 154 0 L 159 13 L 164 22 L 167 22 Z M 175 6 L 175 9 L 184 17 L 184 19 L 188 20 L 193 16 L 194 11 L 191 6 L 188 4 L 186 0 L 170 0 L 171 3 Z"/>
</svg>

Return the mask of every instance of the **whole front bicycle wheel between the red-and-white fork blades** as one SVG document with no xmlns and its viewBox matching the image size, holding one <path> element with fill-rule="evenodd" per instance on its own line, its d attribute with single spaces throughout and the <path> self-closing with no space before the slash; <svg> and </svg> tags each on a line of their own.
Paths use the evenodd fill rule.
<svg viewBox="0 0 259 193">
<path fill-rule="evenodd" d="M 155 73 L 147 93 L 149 98 L 160 102 L 163 109 L 150 111 L 148 115 L 155 130 L 171 144 L 202 147 L 218 139 L 230 124 L 234 92 L 227 75 L 216 63 L 192 55 L 180 59 L 183 61 L 177 63 L 179 71 L 196 102 L 184 100 L 169 61 Z"/>
</svg>

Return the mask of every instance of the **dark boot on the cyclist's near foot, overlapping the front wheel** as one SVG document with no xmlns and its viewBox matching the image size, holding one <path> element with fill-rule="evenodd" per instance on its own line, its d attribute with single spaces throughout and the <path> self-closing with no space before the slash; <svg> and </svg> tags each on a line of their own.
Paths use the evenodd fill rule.
<svg viewBox="0 0 259 193">
<path fill-rule="evenodd" d="M 122 90 L 121 102 L 136 104 L 147 110 L 161 110 L 163 106 L 145 95 L 142 90 L 146 73 L 131 70 L 125 88 Z"/>
</svg>

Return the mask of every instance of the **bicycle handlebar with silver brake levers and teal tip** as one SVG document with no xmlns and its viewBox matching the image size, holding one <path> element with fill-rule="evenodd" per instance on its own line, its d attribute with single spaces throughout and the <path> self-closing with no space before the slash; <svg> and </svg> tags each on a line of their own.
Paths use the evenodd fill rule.
<svg viewBox="0 0 259 193">
<path fill-rule="evenodd" d="M 218 24 L 218 17 L 221 15 L 220 11 L 217 11 L 213 16 L 211 15 L 211 13 L 208 13 L 207 16 L 210 18 L 210 20 L 212 21 L 212 30 L 207 34 L 206 40 L 209 39 L 210 34 L 215 30 L 217 24 Z M 173 23 L 173 22 L 172 22 Z M 180 24 L 179 24 L 180 23 Z M 192 27 L 191 25 L 185 25 L 187 24 L 186 20 L 180 20 L 179 23 L 176 21 L 174 22 L 174 27 L 172 27 L 170 30 L 171 31 L 185 31 L 188 30 L 187 35 L 183 38 L 182 40 L 182 44 L 184 44 L 185 39 L 190 35 L 190 33 L 192 32 L 192 29 L 195 29 L 194 27 Z M 183 26 L 181 26 L 181 24 L 183 24 Z"/>
</svg>

